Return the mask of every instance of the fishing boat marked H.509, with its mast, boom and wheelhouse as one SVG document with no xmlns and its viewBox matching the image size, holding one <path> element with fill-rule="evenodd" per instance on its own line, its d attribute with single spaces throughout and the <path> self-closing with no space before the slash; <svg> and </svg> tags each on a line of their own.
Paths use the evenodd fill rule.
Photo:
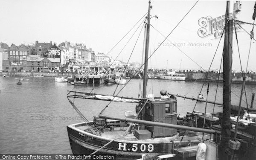
<svg viewBox="0 0 256 160">
<path fill-rule="evenodd" d="M 193 134 L 193 136 L 191 134 L 179 134 L 177 129 L 195 132 L 203 131 L 208 134 L 221 133 L 212 129 L 188 128 L 187 126 L 177 125 L 177 99 L 174 95 L 166 95 L 166 93 L 161 92 L 160 96 L 147 96 L 146 83 L 151 7 L 151 2 L 149 1 L 148 16 L 146 17 L 147 24 L 145 24 L 148 34 L 145 42 L 143 98 L 136 99 L 117 95 L 108 96 L 68 91 L 68 101 L 84 119 L 82 123 L 67 126 L 73 154 L 115 154 L 118 159 L 137 159 L 141 158 L 142 154 L 148 154 L 149 156 L 165 154 L 173 157 L 175 155 L 173 148 L 198 145 L 202 138 L 201 134 Z M 90 122 L 74 105 L 73 100 L 76 98 L 138 103 L 137 108 L 140 108 L 140 111 L 134 119 L 124 119 L 105 116 L 102 114 L 105 110 L 103 109 L 99 116 L 94 116 L 93 121 Z M 139 115 L 140 119 L 138 119 Z M 195 150 L 193 151 L 195 152 Z"/>
</svg>

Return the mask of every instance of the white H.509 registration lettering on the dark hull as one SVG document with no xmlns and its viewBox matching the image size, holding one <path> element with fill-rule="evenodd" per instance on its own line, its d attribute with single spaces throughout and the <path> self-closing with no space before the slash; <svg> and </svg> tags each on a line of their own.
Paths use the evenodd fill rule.
<svg viewBox="0 0 256 160">
<path fill-rule="evenodd" d="M 152 144 L 148 144 L 148 145 L 145 145 L 145 144 L 141 144 L 140 146 L 138 146 L 138 144 L 133 144 L 132 145 L 132 148 L 127 148 L 127 143 L 118 143 L 118 150 L 119 151 L 138 151 L 138 149 L 140 149 L 140 151 L 144 152 L 144 151 L 148 151 L 148 152 L 152 152 L 154 151 L 154 145 Z"/>
</svg>

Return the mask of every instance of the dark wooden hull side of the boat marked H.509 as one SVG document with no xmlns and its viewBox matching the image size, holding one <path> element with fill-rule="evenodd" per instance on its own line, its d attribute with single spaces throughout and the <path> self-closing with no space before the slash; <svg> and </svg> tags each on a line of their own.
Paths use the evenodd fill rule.
<svg viewBox="0 0 256 160">
<path fill-rule="evenodd" d="M 90 122 L 91 125 L 92 122 Z M 79 125 L 85 125 L 85 123 L 68 125 L 67 132 L 70 140 L 70 146 L 73 154 L 85 154 L 89 155 L 94 151 L 101 148 L 103 145 L 109 143 L 110 138 L 100 137 L 88 132 L 82 131 L 76 128 Z M 172 154 L 173 145 L 177 146 L 188 145 L 188 141 L 183 140 L 171 142 L 167 141 L 151 141 L 151 140 L 114 140 L 112 143 L 102 148 L 96 154 L 116 155 L 118 159 L 138 159 L 142 154 L 148 155 L 164 155 Z M 191 145 L 197 145 L 199 141 L 190 142 Z"/>
</svg>

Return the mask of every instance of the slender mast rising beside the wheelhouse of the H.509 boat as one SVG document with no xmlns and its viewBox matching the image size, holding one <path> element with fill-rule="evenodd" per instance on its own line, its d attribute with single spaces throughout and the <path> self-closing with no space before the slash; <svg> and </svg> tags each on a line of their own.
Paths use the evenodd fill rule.
<svg viewBox="0 0 256 160">
<path fill-rule="evenodd" d="M 144 65 L 144 74 L 143 74 L 143 98 L 146 98 L 147 94 L 147 81 L 148 81 L 148 44 L 149 44 L 149 29 L 150 29 L 150 9 L 151 1 L 148 1 L 148 19 L 147 23 L 147 36 L 146 36 L 146 46 L 145 46 L 145 65 Z"/>
</svg>

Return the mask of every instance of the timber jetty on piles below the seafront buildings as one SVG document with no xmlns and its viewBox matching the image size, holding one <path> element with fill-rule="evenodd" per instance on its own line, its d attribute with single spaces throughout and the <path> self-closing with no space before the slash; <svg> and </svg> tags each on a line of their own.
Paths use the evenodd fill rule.
<svg viewBox="0 0 256 160">
<path fill-rule="evenodd" d="M 74 82 L 86 82 L 87 84 L 99 83 L 104 84 L 106 79 L 111 79 L 114 77 L 114 74 L 109 75 L 75 75 Z"/>
</svg>

